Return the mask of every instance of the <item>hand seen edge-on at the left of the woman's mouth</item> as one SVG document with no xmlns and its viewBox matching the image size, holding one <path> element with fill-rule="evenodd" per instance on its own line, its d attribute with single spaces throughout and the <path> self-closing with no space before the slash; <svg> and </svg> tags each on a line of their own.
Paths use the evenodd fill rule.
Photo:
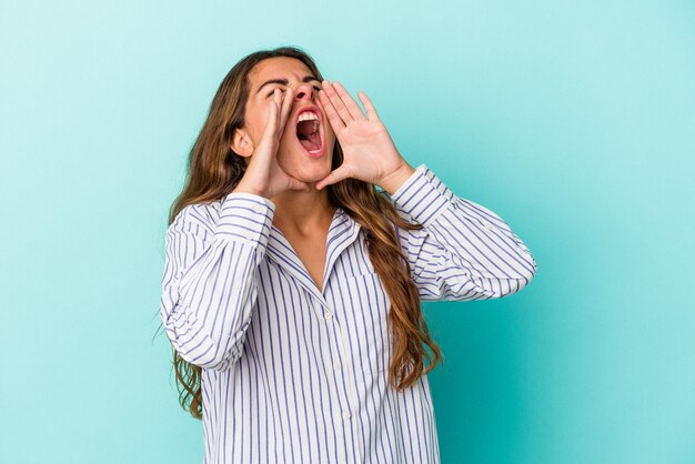
<svg viewBox="0 0 695 464">
<path fill-rule="evenodd" d="M 253 193 L 270 199 L 285 190 L 310 191 L 308 183 L 290 176 L 278 164 L 278 148 L 292 109 L 292 100 L 291 88 L 286 89 L 284 99 L 279 89 L 273 92 L 261 141 L 253 151 L 246 172 L 233 190 L 234 192 Z"/>
</svg>

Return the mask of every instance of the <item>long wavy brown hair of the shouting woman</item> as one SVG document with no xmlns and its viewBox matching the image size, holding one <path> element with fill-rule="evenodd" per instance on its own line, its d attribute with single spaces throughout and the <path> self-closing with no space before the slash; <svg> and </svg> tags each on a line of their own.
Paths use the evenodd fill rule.
<svg viewBox="0 0 695 464">
<path fill-rule="evenodd" d="M 187 205 L 220 200 L 234 190 L 242 179 L 246 163 L 243 157 L 231 150 L 232 135 L 244 123 L 249 73 L 262 60 L 274 57 L 298 59 L 319 80 L 323 80 L 313 59 L 296 47 L 261 50 L 239 61 L 220 84 L 205 122 L 190 150 L 185 184 L 171 205 L 170 225 Z M 332 155 L 332 169 L 335 169 L 343 162 L 338 139 Z M 417 381 L 423 371 L 426 374 L 437 362 L 443 362 L 439 346 L 430 336 L 420 307 L 417 288 L 411 279 L 410 264 L 393 226 L 419 230 L 422 225 L 411 224 L 399 216 L 384 192 L 376 190 L 372 183 L 349 178 L 326 189 L 333 206 L 342 208 L 365 231 L 370 260 L 391 300 L 389 326 L 393 356 L 389 366 L 389 383 L 396 390 L 407 387 Z M 430 347 L 432 355 L 424 345 Z M 427 367 L 424 366 L 425 359 Z M 181 406 L 188 408 L 193 417 L 202 418 L 202 369 L 183 360 L 175 349 L 173 369 Z"/>
</svg>

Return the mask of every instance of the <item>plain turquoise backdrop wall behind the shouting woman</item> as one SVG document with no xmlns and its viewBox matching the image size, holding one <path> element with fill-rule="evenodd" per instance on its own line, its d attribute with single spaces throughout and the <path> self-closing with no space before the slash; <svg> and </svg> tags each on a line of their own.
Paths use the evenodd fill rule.
<svg viewBox="0 0 695 464">
<path fill-rule="evenodd" d="M 695 4 L 611 0 L 2 0 L 2 462 L 202 462 L 167 212 L 224 74 L 281 44 L 538 264 L 424 304 L 443 463 L 694 463 Z"/>
</svg>

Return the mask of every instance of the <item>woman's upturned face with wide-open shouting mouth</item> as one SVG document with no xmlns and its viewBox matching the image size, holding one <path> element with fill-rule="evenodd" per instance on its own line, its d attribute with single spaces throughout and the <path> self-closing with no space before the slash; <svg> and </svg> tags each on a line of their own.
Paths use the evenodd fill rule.
<svg viewBox="0 0 695 464">
<path fill-rule="evenodd" d="M 284 83 L 273 81 L 284 81 Z M 245 124 L 238 130 L 239 138 L 244 140 L 239 143 L 235 138 L 236 147 L 232 149 L 243 157 L 253 153 L 268 122 L 273 90 L 280 89 L 284 98 L 284 91 L 288 88 L 293 89 L 293 101 L 278 149 L 278 164 L 295 179 L 315 182 L 331 173 L 335 135 L 319 100 L 321 81 L 300 60 L 288 57 L 269 58 L 252 69 L 249 74 Z M 299 123 L 298 121 L 300 114 L 310 108 L 319 120 L 318 133 L 315 122 Z M 303 114 L 302 119 L 308 118 L 309 114 Z M 318 155 L 310 153 L 321 147 Z"/>
</svg>

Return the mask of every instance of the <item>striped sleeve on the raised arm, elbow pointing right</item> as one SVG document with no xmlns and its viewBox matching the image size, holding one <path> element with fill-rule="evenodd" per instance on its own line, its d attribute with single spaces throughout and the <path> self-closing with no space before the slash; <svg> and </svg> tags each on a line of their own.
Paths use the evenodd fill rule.
<svg viewBox="0 0 695 464">
<path fill-rule="evenodd" d="M 391 200 L 401 218 L 423 225 L 396 228 L 422 300 L 498 299 L 536 274 L 533 255 L 497 214 L 456 196 L 425 164 Z"/>
</svg>

